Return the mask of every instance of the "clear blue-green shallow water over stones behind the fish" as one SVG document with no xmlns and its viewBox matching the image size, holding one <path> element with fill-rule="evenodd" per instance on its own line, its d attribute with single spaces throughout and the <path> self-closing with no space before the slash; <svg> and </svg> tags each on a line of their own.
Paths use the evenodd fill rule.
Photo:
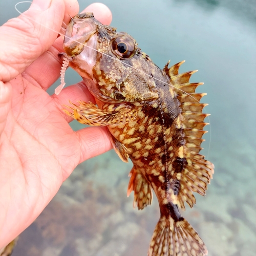
<svg viewBox="0 0 256 256">
<path fill-rule="evenodd" d="M 17 1 L 8 6 L 0 2 L 1 24 L 17 15 L 13 3 Z M 82 10 L 91 2 L 79 3 Z M 255 1 L 102 3 L 113 12 L 112 26 L 136 38 L 159 67 L 169 59 L 185 59 L 181 71 L 199 70 L 191 81 L 204 81 L 198 91 L 208 94 L 202 100 L 211 114 L 203 154 L 215 164 L 215 175 L 207 196 L 197 196 L 197 205 L 183 215 L 206 243 L 209 256 L 255 255 Z M 71 70 L 68 74 L 67 84 L 80 80 Z M 132 195 L 126 198 L 131 167 L 114 151 L 80 164 L 20 235 L 13 256 L 146 255 L 159 209 L 156 197 L 152 206 L 133 209 Z"/>
</svg>

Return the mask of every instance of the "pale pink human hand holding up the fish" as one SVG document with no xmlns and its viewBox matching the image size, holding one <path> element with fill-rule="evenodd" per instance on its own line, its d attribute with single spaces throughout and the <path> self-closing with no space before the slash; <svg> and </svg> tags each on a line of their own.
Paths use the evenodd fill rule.
<svg viewBox="0 0 256 256">
<path fill-rule="evenodd" d="M 58 96 L 46 92 L 59 77 L 63 49 L 44 26 L 60 31 L 78 9 L 76 0 L 35 0 L 26 16 L 0 27 L 0 248 L 37 218 L 79 163 L 112 147 L 104 127 L 73 132 L 61 110 L 69 100 L 94 102 L 82 82 Z M 111 23 L 102 4 L 85 11 Z"/>
</svg>

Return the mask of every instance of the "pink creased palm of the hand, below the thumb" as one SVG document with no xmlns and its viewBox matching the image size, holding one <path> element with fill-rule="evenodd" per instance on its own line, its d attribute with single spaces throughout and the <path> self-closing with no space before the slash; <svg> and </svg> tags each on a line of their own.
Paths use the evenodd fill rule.
<svg viewBox="0 0 256 256">
<path fill-rule="evenodd" d="M 6 154 L 1 155 L 5 160 L 0 164 L 14 168 L 1 172 L 0 182 L 10 191 L 5 194 L 6 203 L 26 215 L 31 208 L 36 212 L 37 205 L 49 202 L 80 156 L 74 155 L 76 135 L 54 100 L 22 76 L 13 80 L 12 86 L 11 112 L 2 134 Z"/>
</svg>

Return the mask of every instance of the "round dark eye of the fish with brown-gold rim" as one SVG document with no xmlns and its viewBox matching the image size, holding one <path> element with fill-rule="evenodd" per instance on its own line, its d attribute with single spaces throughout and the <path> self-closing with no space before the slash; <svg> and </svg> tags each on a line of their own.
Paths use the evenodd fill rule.
<svg viewBox="0 0 256 256">
<path fill-rule="evenodd" d="M 135 42 L 127 36 L 118 36 L 111 41 L 111 50 L 119 59 L 131 58 L 135 53 Z"/>
</svg>

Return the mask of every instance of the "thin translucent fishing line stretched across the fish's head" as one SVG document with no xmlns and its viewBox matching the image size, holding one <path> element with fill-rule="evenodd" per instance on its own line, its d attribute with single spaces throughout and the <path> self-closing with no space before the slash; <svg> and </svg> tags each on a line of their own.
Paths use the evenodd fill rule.
<svg viewBox="0 0 256 256">
<path fill-rule="evenodd" d="M 26 16 L 25 14 L 23 14 L 22 12 L 20 12 L 20 11 L 17 9 L 17 5 L 19 5 L 19 4 L 24 4 L 24 3 L 30 3 L 30 4 L 32 4 L 31 1 L 22 1 L 22 2 L 17 3 L 17 4 L 14 6 L 14 8 L 15 8 L 15 10 L 16 10 L 19 14 Z M 49 28 L 49 27 L 45 26 L 44 24 L 40 24 L 39 22 L 37 22 L 36 20 L 33 20 L 32 18 L 30 18 L 30 17 L 28 17 L 28 16 L 26 16 L 26 17 L 27 17 L 28 19 L 32 20 L 33 22 L 39 24 L 40 26 L 45 27 L 45 28 L 47 28 L 47 29 L 49 29 L 49 30 L 51 30 L 51 31 L 53 31 L 53 32 L 55 32 L 55 33 L 58 33 L 59 35 L 63 36 L 63 38 L 65 37 L 65 34 L 63 34 L 63 33 L 61 33 L 61 32 L 58 32 L 58 31 L 55 31 L 54 29 Z M 63 27 L 61 27 L 61 29 L 63 30 Z M 72 38 L 69 37 L 69 36 L 66 36 L 66 37 L 69 38 L 69 39 L 72 39 Z M 158 78 L 156 78 L 156 77 L 153 77 L 153 76 L 151 76 L 151 75 L 145 73 L 144 71 L 139 70 L 139 69 L 137 69 L 137 68 L 135 68 L 135 67 L 129 65 L 128 63 L 125 63 L 125 62 L 121 61 L 120 59 L 116 59 L 115 57 L 112 57 L 112 56 L 110 56 L 110 55 L 108 55 L 108 54 L 105 54 L 105 53 L 103 53 L 103 52 L 100 52 L 100 51 L 98 51 L 98 50 L 96 50 L 96 49 L 94 49 L 94 48 L 92 48 L 92 47 L 90 47 L 90 46 L 87 46 L 87 45 L 85 45 L 85 44 L 82 44 L 81 42 L 78 42 L 78 41 L 76 41 L 76 40 L 74 40 L 74 39 L 72 39 L 72 40 L 75 41 L 75 42 L 77 42 L 78 44 L 83 45 L 84 47 L 88 47 L 89 49 L 92 49 L 92 50 L 94 50 L 94 51 L 96 51 L 96 52 L 99 52 L 99 53 L 101 53 L 101 54 L 103 54 L 103 55 L 109 57 L 109 58 L 112 58 L 112 59 L 115 60 L 115 61 L 120 61 L 120 62 L 123 63 L 124 65 L 126 65 L 126 66 L 128 66 L 128 67 L 130 67 L 130 68 L 132 68 L 132 69 L 135 69 L 135 70 L 137 70 L 138 72 L 141 72 L 141 73 L 145 74 L 146 76 L 151 77 L 151 78 L 153 78 L 153 79 L 155 79 L 155 80 L 157 80 L 157 81 L 159 81 L 159 82 L 162 82 L 162 83 L 166 84 L 167 86 L 171 86 L 171 87 L 173 87 L 173 88 L 176 88 L 177 90 L 179 90 L 179 91 L 181 91 L 181 92 L 183 92 L 183 93 L 189 95 L 189 96 L 190 96 L 191 98 L 193 98 L 196 102 L 200 103 L 200 101 L 197 100 L 195 97 L 193 97 L 193 96 L 191 96 L 189 93 L 186 93 L 186 92 L 184 92 L 183 90 L 181 90 L 181 89 L 179 89 L 179 88 L 173 86 L 173 85 L 170 84 L 170 83 L 166 83 L 166 82 L 164 82 L 164 81 L 161 81 L 160 79 L 158 79 Z M 65 63 L 65 65 L 67 65 L 67 62 Z M 64 75 L 63 75 L 63 73 L 62 73 L 62 74 L 61 74 L 61 78 L 64 79 L 63 77 L 64 77 Z M 63 86 L 61 86 L 61 87 L 63 88 L 64 86 L 65 86 L 65 82 L 63 82 Z M 60 91 L 61 91 L 61 89 L 62 89 L 61 87 L 59 87 L 59 90 L 60 90 Z M 60 92 L 60 91 L 58 91 L 58 92 Z M 207 116 L 207 119 L 208 119 L 209 124 L 210 124 L 210 118 L 209 118 L 209 116 Z M 210 150 L 210 142 L 211 142 L 211 129 L 210 129 L 210 125 L 209 125 L 209 137 L 210 137 L 210 138 L 209 138 L 208 153 L 209 153 L 209 150 Z M 208 158 L 208 153 L 207 153 L 207 158 Z"/>
</svg>

